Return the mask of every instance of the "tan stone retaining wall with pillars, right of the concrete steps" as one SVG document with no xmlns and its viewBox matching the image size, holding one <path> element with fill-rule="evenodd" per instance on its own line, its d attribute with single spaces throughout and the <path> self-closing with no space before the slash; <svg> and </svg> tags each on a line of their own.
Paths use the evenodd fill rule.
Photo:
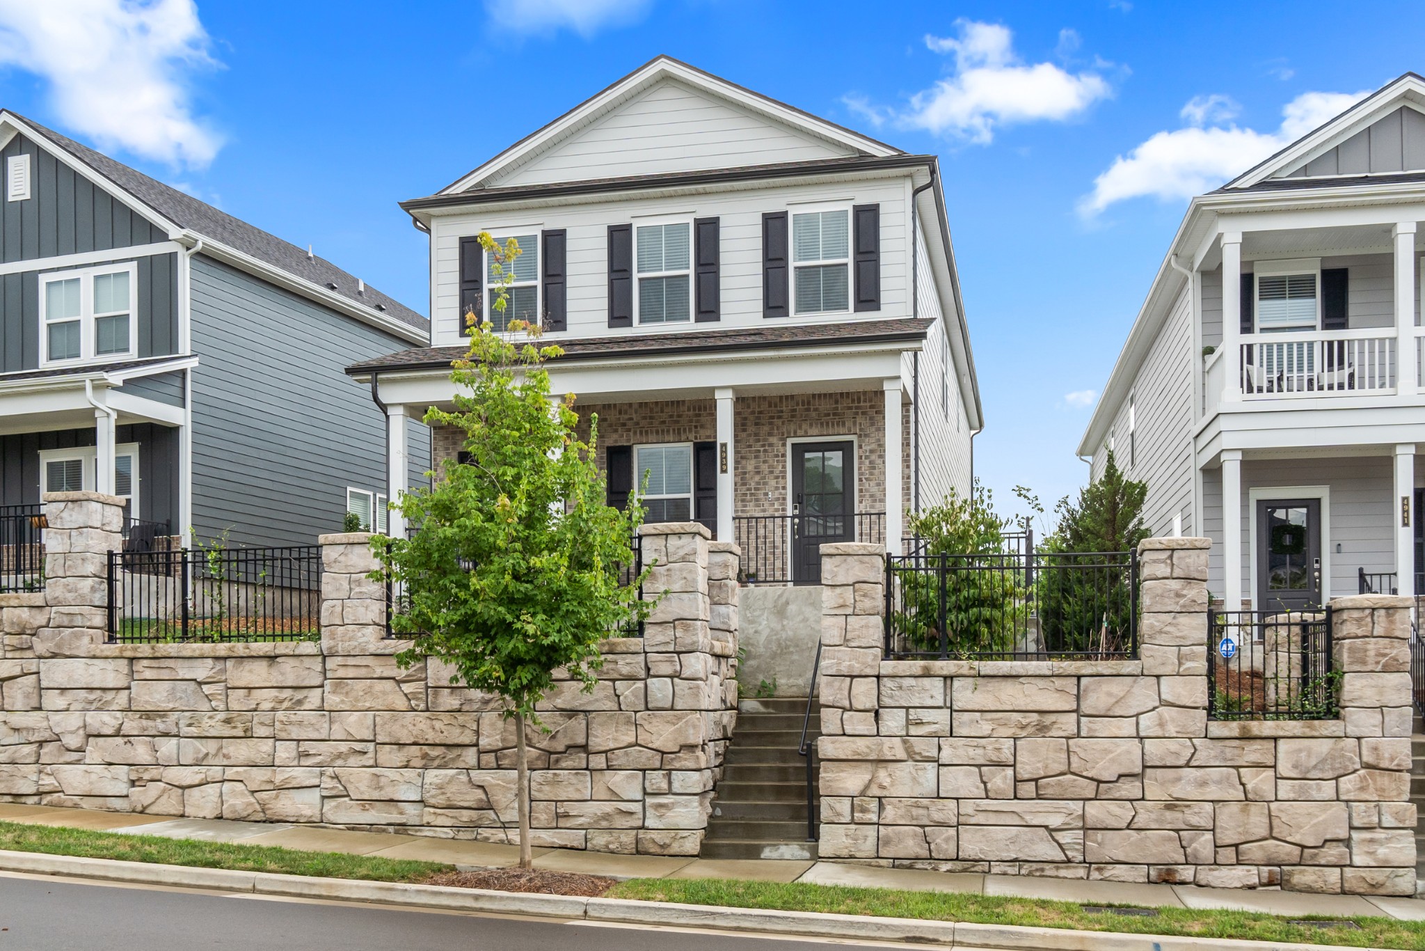
<svg viewBox="0 0 1425 951">
<path fill-rule="evenodd" d="M 1207 539 L 1141 552 L 1141 660 L 882 660 L 884 562 L 822 548 L 821 855 L 1415 894 L 1409 599 L 1332 602 L 1341 719 L 1207 719 Z"/>
</svg>

